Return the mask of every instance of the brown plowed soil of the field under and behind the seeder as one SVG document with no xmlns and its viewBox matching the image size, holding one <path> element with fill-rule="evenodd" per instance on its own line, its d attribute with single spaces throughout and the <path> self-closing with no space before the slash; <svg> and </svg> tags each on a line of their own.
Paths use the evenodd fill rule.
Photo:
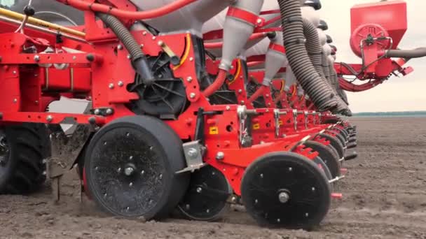
<svg viewBox="0 0 426 239">
<path fill-rule="evenodd" d="M 142 222 L 103 215 L 64 180 L 60 203 L 50 187 L 32 196 L 0 196 L 0 238 L 426 238 L 426 118 L 354 118 L 358 159 L 335 191 L 316 231 L 262 229 L 245 212 L 222 222 Z M 71 179 L 70 179 L 71 178 Z"/>
</svg>

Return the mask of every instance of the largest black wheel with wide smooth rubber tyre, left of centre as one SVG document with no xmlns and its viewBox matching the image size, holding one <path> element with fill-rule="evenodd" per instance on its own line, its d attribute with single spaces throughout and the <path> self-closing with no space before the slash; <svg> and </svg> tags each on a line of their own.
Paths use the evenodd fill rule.
<svg viewBox="0 0 426 239">
<path fill-rule="evenodd" d="M 85 154 L 90 196 L 122 217 L 165 217 L 184 196 L 188 174 L 179 137 L 159 119 L 117 119 L 93 136 Z"/>
</svg>

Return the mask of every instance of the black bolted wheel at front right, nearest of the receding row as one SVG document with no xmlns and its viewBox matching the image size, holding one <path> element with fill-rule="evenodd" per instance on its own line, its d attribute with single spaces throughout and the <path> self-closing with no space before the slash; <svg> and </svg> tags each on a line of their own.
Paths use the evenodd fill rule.
<svg viewBox="0 0 426 239">
<path fill-rule="evenodd" d="M 263 226 L 310 230 L 327 215 L 331 189 L 313 161 L 273 152 L 247 168 L 241 196 L 249 215 Z"/>
</svg>

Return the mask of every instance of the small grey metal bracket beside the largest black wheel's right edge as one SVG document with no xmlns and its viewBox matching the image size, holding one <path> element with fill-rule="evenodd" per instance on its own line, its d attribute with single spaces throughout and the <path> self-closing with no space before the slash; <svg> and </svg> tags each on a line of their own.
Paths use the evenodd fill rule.
<svg viewBox="0 0 426 239">
<path fill-rule="evenodd" d="M 183 147 L 186 160 L 186 168 L 177 171 L 176 174 L 193 172 L 207 165 L 205 162 L 202 161 L 202 154 L 205 150 L 205 147 L 201 145 L 198 140 L 184 143 Z"/>
</svg>

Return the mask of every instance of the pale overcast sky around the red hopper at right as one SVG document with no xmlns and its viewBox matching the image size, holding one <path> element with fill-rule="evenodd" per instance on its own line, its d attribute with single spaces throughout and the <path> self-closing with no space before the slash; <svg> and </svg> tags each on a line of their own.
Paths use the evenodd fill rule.
<svg viewBox="0 0 426 239">
<path fill-rule="evenodd" d="M 374 1 L 378 0 L 322 0 L 320 11 L 322 18 L 329 24 L 327 34 L 334 38 L 334 44 L 338 48 L 338 61 L 361 63 L 350 50 L 350 8 L 357 3 Z M 408 31 L 399 48 L 426 47 L 426 1 L 406 2 Z M 407 65 L 413 66 L 414 72 L 404 78 L 393 76 L 366 92 L 348 92 L 352 112 L 426 110 L 426 58 L 412 59 Z"/>
</svg>

